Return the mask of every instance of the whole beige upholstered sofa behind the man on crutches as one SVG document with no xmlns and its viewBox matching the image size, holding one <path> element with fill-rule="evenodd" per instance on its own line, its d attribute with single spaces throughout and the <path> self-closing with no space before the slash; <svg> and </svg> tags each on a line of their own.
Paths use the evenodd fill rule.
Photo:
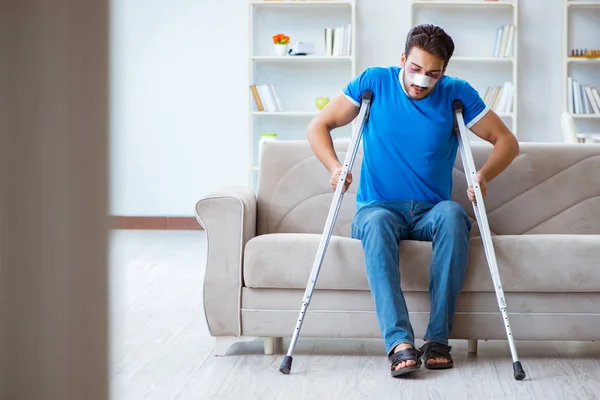
<svg viewBox="0 0 600 400">
<path fill-rule="evenodd" d="M 348 141 L 336 141 L 340 160 Z M 491 150 L 472 143 L 479 167 Z M 345 195 L 300 334 L 380 338 L 361 243 L 350 238 L 362 153 Z M 486 207 L 516 340 L 600 340 L 600 145 L 521 143 L 488 184 Z M 291 336 L 333 198 L 330 175 L 306 141 L 267 142 L 255 194 L 227 187 L 201 199 L 206 322 L 215 354 L 231 344 Z M 453 199 L 470 216 L 460 156 Z M 473 222 L 475 220 L 473 219 Z M 477 224 L 451 337 L 506 339 Z M 429 318 L 431 244 L 400 247 L 402 288 L 417 338 Z M 382 354 L 385 351 L 382 345 Z"/>
</svg>

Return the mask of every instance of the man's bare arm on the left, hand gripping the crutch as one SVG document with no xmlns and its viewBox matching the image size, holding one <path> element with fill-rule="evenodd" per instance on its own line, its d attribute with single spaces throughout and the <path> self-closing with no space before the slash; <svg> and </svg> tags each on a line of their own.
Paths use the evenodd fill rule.
<svg viewBox="0 0 600 400">
<path fill-rule="evenodd" d="M 343 93 L 339 93 L 312 119 L 306 128 L 306 137 L 313 152 L 332 174 L 331 188 L 333 190 L 337 186 L 337 180 L 342 171 L 342 163 L 335 153 L 331 131 L 348 125 L 356 118 L 359 111 L 359 107 L 352 104 Z M 349 171 L 344 191 L 348 189 L 351 183 L 352 174 Z"/>
</svg>

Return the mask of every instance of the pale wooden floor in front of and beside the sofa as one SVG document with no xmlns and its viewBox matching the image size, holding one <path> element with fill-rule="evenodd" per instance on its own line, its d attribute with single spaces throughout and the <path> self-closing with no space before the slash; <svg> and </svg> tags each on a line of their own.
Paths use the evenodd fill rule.
<svg viewBox="0 0 600 400">
<path fill-rule="evenodd" d="M 505 342 L 475 357 L 455 341 L 455 368 L 391 378 L 380 340 L 300 339 L 291 375 L 260 341 L 212 354 L 202 311 L 206 240 L 197 231 L 114 231 L 112 399 L 600 399 L 600 343 Z M 287 349 L 289 341 L 284 340 Z"/>
</svg>

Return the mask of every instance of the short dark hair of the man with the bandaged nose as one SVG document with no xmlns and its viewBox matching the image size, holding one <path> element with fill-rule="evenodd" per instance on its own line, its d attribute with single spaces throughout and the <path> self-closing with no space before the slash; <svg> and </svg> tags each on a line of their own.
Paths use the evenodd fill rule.
<svg viewBox="0 0 600 400">
<path fill-rule="evenodd" d="M 408 32 L 404 49 L 407 57 L 415 46 L 443 59 L 444 68 L 454 53 L 452 38 L 442 28 L 431 24 L 417 25 Z"/>
</svg>

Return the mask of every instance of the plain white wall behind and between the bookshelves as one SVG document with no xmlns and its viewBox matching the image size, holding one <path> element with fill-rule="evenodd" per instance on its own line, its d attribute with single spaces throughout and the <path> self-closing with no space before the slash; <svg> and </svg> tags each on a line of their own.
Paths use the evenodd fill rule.
<svg viewBox="0 0 600 400">
<path fill-rule="evenodd" d="M 407 3 L 357 0 L 358 71 L 398 63 Z M 562 1 L 519 3 L 519 139 L 559 141 Z M 114 1 L 112 51 L 112 214 L 192 215 L 246 183 L 246 0 Z"/>
</svg>

